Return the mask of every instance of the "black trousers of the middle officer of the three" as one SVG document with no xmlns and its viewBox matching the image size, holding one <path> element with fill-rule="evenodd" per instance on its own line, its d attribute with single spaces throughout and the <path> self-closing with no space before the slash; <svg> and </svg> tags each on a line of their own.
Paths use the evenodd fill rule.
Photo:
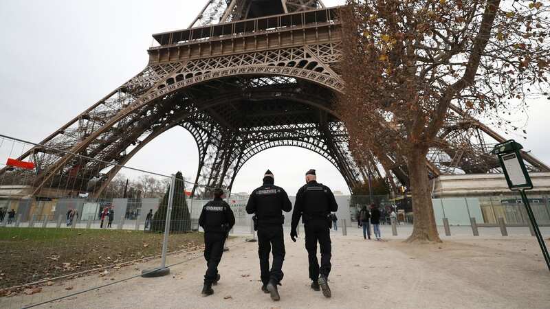
<svg viewBox="0 0 550 309">
<path fill-rule="evenodd" d="M 270 271 L 270 251 L 273 249 L 273 264 Z M 268 284 L 283 280 L 283 261 L 285 260 L 285 240 L 282 225 L 258 227 L 258 255 L 260 257 L 261 280 Z"/>
</svg>

